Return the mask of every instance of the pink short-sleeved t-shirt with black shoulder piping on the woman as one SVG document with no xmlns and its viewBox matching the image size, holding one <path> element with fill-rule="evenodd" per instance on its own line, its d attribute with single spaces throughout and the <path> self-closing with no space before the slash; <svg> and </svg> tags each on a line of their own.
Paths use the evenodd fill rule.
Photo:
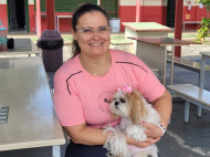
<svg viewBox="0 0 210 157">
<path fill-rule="evenodd" d="M 65 62 L 54 75 L 54 106 L 63 126 L 78 125 L 102 128 L 112 118 L 109 103 L 117 86 L 136 87 L 147 101 L 155 101 L 165 92 L 165 86 L 150 69 L 136 55 L 119 50 L 109 50 L 112 66 L 104 76 L 93 76 L 78 61 L 78 55 Z"/>
</svg>

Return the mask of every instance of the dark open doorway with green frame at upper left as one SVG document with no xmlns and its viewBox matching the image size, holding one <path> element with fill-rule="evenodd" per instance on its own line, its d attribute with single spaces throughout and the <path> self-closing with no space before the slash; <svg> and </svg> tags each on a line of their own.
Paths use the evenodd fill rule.
<svg viewBox="0 0 210 157">
<path fill-rule="evenodd" d="M 9 32 L 29 32 L 28 0 L 8 0 Z"/>
</svg>

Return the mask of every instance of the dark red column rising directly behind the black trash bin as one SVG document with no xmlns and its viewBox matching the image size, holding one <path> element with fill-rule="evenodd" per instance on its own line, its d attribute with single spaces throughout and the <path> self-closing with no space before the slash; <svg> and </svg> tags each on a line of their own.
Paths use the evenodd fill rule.
<svg viewBox="0 0 210 157">
<path fill-rule="evenodd" d="M 46 0 L 46 30 L 55 30 L 54 0 Z"/>
</svg>

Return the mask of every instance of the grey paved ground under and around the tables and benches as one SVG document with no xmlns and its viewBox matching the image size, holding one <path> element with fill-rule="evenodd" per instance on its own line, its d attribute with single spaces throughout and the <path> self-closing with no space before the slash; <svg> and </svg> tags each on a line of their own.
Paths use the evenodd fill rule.
<svg viewBox="0 0 210 157">
<path fill-rule="evenodd" d="M 66 34 L 67 35 L 67 34 Z M 21 36 L 21 35 L 20 35 Z M 129 51 L 129 46 L 119 46 L 118 49 Z M 170 48 L 169 48 L 170 49 Z M 63 60 L 71 57 L 69 46 L 63 49 Z M 181 56 L 188 60 L 200 62 L 201 51 L 210 51 L 210 45 L 190 45 L 182 46 Z M 208 61 L 207 64 L 210 65 Z M 167 65 L 167 84 L 169 84 L 169 70 Z M 48 72 L 51 77 L 50 85 L 53 87 L 54 72 Z M 199 74 L 181 67 L 175 66 L 175 84 L 193 84 L 198 85 Z M 210 91 L 210 72 L 206 72 L 204 88 Z M 183 101 L 174 100 L 174 111 L 171 123 L 167 133 L 158 142 L 159 154 L 161 157 L 210 157 L 210 113 L 202 109 L 202 116 L 196 116 L 196 107 L 191 105 L 189 122 L 183 123 Z M 66 145 L 61 147 L 61 155 L 64 156 Z M 51 147 L 32 148 L 24 150 L 1 151 L 0 157 L 51 157 Z"/>
</svg>

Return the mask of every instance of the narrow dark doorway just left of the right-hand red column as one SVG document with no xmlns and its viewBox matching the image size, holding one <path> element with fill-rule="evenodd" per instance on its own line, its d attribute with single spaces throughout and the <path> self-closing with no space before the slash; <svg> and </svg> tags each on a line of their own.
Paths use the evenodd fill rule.
<svg viewBox="0 0 210 157">
<path fill-rule="evenodd" d="M 175 28 L 176 0 L 168 0 L 167 6 L 167 27 Z"/>
</svg>

